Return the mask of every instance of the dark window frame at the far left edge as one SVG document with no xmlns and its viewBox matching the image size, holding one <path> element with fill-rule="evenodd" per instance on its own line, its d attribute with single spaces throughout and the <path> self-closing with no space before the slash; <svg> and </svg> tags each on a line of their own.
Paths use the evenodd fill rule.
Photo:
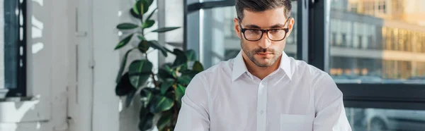
<svg viewBox="0 0 425 131">
<path fill-rule="evenodd" d="M 26 66 L 27 66 L 27 1 L 24 0 L 22 2 L 18 1 L 18 11 L 21 14 L 22 13 L 22 25 L 18 24 L 20 26 L 20 28 L 22 27 L 22 30 L 20 30 L 18 28 L 18 34 L 22 33 L 22 40 L 17 39 L 17 43 L 18 44 L 18 48 L 16 53 L 17 53 L 17 59 L 18 59 L 18 64 L 17 64 L 17 83 L 16 83 L 16 88 L 13 89 L 8 89 L 8 92 L 6 94 L 6 97 L 21 97 L 21 96 L 27 96 L 27 89 L 26 89 L 26 80 L 27 80 L 27 73 L 26 73 Z M 21 21 L 20 18 L 18 17 L 18 21 Z M 22 32 L 21 32 L 22 31 Z M 22 52 L 20 52 L 20 49 L 22 49 Z M 21 54 L 20 54 L 21 53 Z M 22 64 L 19 64 L 21 61 Z"/>
</svg>

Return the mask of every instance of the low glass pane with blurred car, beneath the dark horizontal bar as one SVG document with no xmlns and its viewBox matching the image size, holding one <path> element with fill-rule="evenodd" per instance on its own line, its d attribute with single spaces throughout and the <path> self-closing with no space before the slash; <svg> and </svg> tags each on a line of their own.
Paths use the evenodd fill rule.
<svg viewBox="0 0 425 131">
<path fill-rule="evenodd" d="M 425 111 L 346 108 L 353 131 L 424 130 Z"/>
</svg>

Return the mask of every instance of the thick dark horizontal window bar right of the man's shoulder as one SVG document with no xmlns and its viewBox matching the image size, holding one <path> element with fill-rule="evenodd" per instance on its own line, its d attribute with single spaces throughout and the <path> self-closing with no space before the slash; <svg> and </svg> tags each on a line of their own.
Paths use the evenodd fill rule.
<svg viewBox="0 0 425 131">
<path fill-rule="evenodd" d="M 425 85 L 338 84 L 344 106 L 425 110 Z"/>
</svg>

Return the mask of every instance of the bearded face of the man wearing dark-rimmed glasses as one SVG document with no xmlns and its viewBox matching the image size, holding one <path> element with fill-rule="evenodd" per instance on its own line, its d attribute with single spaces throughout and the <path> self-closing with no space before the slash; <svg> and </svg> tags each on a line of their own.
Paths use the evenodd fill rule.
<svg viewBox="0 0 425 131">
<path fill-rule="evenodd" d="M 244 18 L 242 18 L 242 21 L 234 18 L 234 28 L 239 39 L 241 39 L 242 51 L 244 51 L 246 56 L 248 56 L 248 58 L 259 67 L 271 66 L 278 60 L 278 58 L 280 58 L 280 55 L 285 48 L 286 38 L 290 35 L 293 25 L 294 20 L 292 18 L 290 18 L 290 20 L 286 18 L 284 7 L 263 12 L 244 10 Z M 244 29 L 257 30 L 288 28 L 288 32 L 285 33 L 283 30 L 271 30 L 268 31 L 268 35 L 264 32 L 260 36 L 261 32 L 253 33 L 253 30 L 245 30 L 245 33 L 242 33 L 241 27 Z M 280 36 L 276 35 L 274 32 L 280 32 Z M 261 39 L 257 40 L 256 38 L 259 37 L 254 37 L 255 34 L 259 35 Z M 280 40 L 283 36 L 285 36 L 285 39 Z"/>
</svg>

